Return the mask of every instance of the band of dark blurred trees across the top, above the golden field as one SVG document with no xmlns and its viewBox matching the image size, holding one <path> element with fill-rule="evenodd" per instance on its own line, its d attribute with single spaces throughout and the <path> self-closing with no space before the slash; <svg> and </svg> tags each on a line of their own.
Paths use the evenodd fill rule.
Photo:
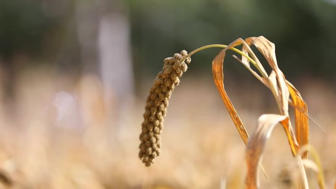
<svg viewBox="0 0 336 189">
<path fill-rule="evenodd" d="M 112 22 L 120 15 L 126 25 L 103 27 L 107 18 Z M 133 56 L 125 61 L 133 60 L 135 81 L 140 81 L 181 49 L 264 35 L 276 44 L 280 67 L 288 77 L 335 80 L 335 23 L 333 0 L 0 0 L 0 62 L 7 81 L 15 79 L 18 69 L 36 63 L 74 76 L 82 71 L 99 74 L 105 69 L 100 70 L 98 62 L 105 61 L 98 46 L 106 41 L 97 38 L 105 28 L 114 35 L 110 43 L 112 37 L 117 43 L 131 33 Z M 123 26 L 130 30 L 114 33 Z M 210 70 L 209 57 L 217 52 L 196 54 L 190 72 Z M 238 75 L 241 71 L 237 63 L 226 67 Z"/>
</svg>

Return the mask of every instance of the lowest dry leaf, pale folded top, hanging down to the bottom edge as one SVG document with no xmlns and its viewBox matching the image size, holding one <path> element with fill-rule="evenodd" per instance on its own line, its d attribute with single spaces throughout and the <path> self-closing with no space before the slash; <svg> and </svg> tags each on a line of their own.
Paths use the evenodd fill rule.
<svg viewBox="0 0 336 189">
<path fill-rule="evenodd" d="M 247 145 L 246 161 L 248 173 L 245 189 L 259 188 L 258 165 L 262 160 L 266 142 L 273 128 L 280 122 L 288 123 L 288 117 L 276 114 L 263 114 L 259 117 L 256 132 L 252 135 Z"/>
</svg>

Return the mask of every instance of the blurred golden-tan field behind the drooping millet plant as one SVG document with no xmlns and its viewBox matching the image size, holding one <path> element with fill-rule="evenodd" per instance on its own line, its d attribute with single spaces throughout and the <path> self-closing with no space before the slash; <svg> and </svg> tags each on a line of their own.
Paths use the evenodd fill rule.
<svg viewBox="0 0 336 189">
<path fill-rule="evenodd" d="M 272 94 L 246 74 L 226 77 L 228 94 L 251 135 L 257 118 L 277 112 Z M 197 79 L 196 79 L 197 78 Z M 169 101 L 161 155 L 150 167 L 138 158 L 145 99 L 123 99 L 90 75 L 53 76 L 28 70 L 0 93 L 0 188 L 3 189 L 241 189 L 245 145 L 211 76 L 186 74 Z M 310 123 L 310 143 L 319 152 L 326 184 L 336 183 L 336 92 L 325 81 L 293 82 L 308 110 L 326 128 Z M 244 86 L 244 87 L 237 87 Z M 270 177 L 262 188 L 297 188 L 299 172 L 282 127 L 276 127 L 263 160 Z M 308 171 L 311 189 L 316 174 Z"/>
</svg>

